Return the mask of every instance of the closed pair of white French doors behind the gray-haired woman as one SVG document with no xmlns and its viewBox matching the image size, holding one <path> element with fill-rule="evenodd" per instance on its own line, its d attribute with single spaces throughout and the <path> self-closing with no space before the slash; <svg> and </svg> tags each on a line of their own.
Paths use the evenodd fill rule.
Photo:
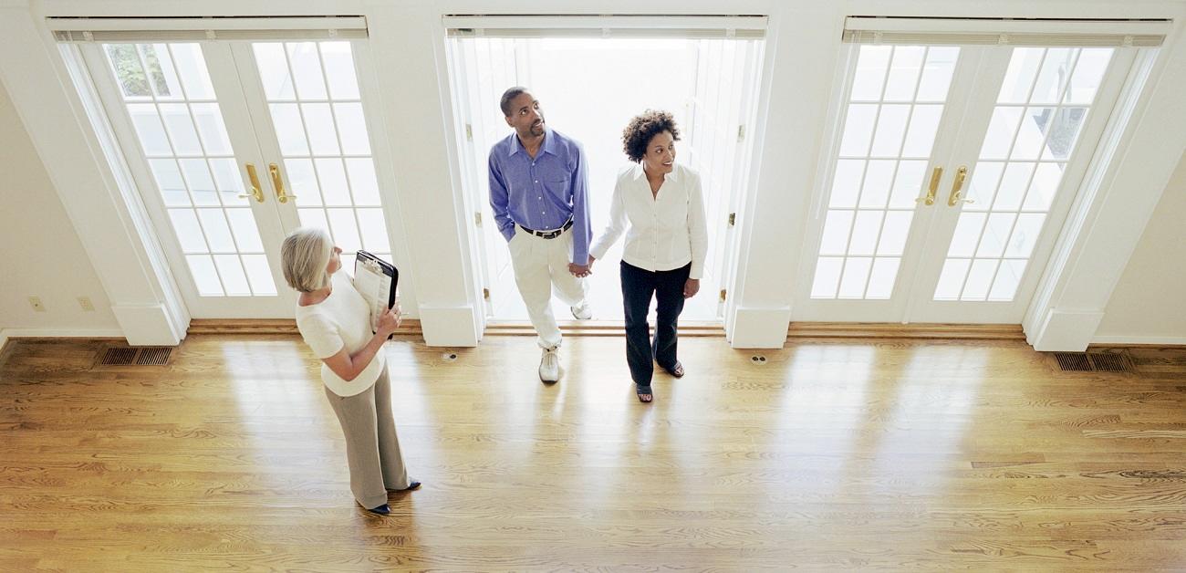
<svg viewBox="0 0 1186 573">
<path fill-rule="evenodd" d="M 391 260 L 363 42 L 79 52 L 193 318 L 292 317 L 280 243 L 300 225 L 327 229 L 347 261 Z"/>
</svg>

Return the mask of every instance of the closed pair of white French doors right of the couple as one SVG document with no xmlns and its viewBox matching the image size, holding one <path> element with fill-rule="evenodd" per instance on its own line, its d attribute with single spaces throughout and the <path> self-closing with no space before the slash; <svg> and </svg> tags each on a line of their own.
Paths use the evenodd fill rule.
<svg viewBox="0 0 1186 573">
<path fill-rule="evenodd" d="M 795 319 L 1020 323 L 1137 49 L 848 50 Z"/>
</svg>

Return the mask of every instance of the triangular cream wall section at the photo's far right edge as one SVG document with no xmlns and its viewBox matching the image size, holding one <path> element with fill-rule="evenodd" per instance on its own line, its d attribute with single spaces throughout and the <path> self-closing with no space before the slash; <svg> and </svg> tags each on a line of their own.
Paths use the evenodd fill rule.
<svg viewBox="0 0 1186 573">
<path fill-rule="evenodd" d="M 1124 267 L 1095 342 L 1186 344 L 1186 154 Z"/>
</svg>

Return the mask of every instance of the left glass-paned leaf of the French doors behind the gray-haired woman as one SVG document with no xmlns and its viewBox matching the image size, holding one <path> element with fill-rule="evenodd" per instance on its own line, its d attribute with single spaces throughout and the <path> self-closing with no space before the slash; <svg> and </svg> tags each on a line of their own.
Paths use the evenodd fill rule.
<svg viewBox="0 0 1186 573">
<path fill-rule="evenodd" d="M 196 43 L 102 44 L 83 55 L 149 214 L 168 229 L 162 243 L 184 268 L 174 270 L 189 275 L 181 287 L 191 314 L 282 314 L 261 215 L 244 195 L 237 159 L 254 157 L 254 141 L 228 130 L 228 102 L 216 96 L 215 79 L 227 78 L 211 77 Z"/>
</svg>

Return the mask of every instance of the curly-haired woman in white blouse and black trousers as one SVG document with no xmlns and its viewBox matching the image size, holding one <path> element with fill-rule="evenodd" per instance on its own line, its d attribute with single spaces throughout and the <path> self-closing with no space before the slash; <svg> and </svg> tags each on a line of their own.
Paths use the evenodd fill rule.
<svg viewBox="0 0 1186 573">
<path fill-rule="evenodd" d="M 621 254 L 621 303 L 626 317 L 626 363 L 642 402 L 655 399 L 653 363 L 677 378 L 676 323 L 683 300 L 700 291 L 708 253 L 708 228 L 700 176 L 675 163 L 680 129 L 670 113 L 648 109 L 623 130 L 623 151 L 635 165 L 618 174 L 610 224 L 589 249 L 589 263 L 626 234 Z M 646 313 L 657 299 L 655 339 Z"/>
</svg>

